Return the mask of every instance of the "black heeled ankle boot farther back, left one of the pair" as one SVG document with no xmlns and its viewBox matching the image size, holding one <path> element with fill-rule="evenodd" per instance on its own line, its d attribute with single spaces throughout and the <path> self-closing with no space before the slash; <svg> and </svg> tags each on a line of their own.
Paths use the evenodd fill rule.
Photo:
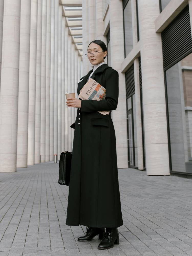
<svg viewBox="0 0 192 256">
<path fill-rule="evenodd" d="M 103 239 L 105 234 L 105 228 L 86 228 L 84 236 L 77 238 L 78 241 L 91 241 L 93 237 L 97 236 L 98 239 Z"/>
</svg>

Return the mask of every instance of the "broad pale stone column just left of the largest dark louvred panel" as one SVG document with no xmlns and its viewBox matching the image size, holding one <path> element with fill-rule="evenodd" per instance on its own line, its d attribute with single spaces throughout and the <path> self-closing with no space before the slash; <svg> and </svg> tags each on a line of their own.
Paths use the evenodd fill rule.
<svg viewBox="0 0 192 256">
<path fill-rule="evenodd" d="M 139 0 L 138 12 L 147 175 L 169 175 L 162 41 L 155 32 L 159 1 Z"/>
</svg>

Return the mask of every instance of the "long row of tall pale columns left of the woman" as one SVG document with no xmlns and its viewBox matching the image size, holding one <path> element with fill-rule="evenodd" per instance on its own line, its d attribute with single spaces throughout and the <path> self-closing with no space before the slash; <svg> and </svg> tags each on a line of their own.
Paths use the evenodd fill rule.
<svg viewBox="0 0 192 256">
<path fill-rule="evenodd" d="M 0 172 L 72 151 L 81 56 L 59 0 L 0 0 Z M 77 92 L 76 92 L 77 97 Z"/>
</svg>

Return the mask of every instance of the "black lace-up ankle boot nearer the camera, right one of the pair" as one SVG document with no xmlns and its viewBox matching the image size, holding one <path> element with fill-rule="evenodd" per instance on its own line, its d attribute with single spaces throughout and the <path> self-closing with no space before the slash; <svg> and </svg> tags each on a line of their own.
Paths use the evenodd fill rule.
<svg viewBox="0 0 192 256">
<path fill-rule="evenodd" d="M 114 244 L 119 244 L 119 232 L 117 228 L 106 228 L 105 236 L 98 245 L 98 249 L 109 249 L 112 248 Z"/>
</svg>

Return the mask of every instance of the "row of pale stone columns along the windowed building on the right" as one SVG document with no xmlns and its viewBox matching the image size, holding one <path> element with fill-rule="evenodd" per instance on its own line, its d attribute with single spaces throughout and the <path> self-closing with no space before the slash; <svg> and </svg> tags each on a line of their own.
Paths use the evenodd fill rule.
<svg viewBox="0 0 192 256">
<path fill-rule="evenodd" d="M 137 44 L 136 1 L 130 0 L 132 6 L 133 47 Z M 101 39 L 106 42 L 110 26 L 111 66 L 119 72 L 119 101 L 113 111 L 112 119 L 116 133 L 116 150 L 118 168 L 128 167 L 127 116 L 125 76 L 121 72 L 124 62 L 124 29 L 122 1 L 110 0 L 109 9 L 104 16 L 103 1 L 82 1 L 82 6 L 89 8 L 91 15 L 83 11 L 83 53 L 87 51 L 90 41 Z M 84 9 L 83 8 L 83 9 Z M 148 0 L 147 5 L 138 1 L 140 49 L 142 68 L 144 135 L 146 149 L 146 169 L 148 175 L 169 175 L 169 154 L 167 138 L 166 104 L 161 36 L 155 32 L 155 19 L 159 15 L 159 1 Z M 96 15 L 95 15 L 96 14 Z M 103 19 L 103 17 L 105 17 Z M 148 19 L 150 17 L 150 20 Z M 89 26 L 88 26 L 89 25 Z M 108 49 L 109 50 L 109 49 Z M 158 56 L 157 58 L 155 56 Z M 129 60 L 129 56 L 126 58 Z M 88 60 L 83 58 L 83 72 L 90 70 Z M 138 168 L 143 169 L 143 137 L 141 122 L 141 97 L 139 84 L 138 58 L 134 59 L 136 132 Z M 129 63 L 127 63 L 128 65 Z"/>
</svg>

